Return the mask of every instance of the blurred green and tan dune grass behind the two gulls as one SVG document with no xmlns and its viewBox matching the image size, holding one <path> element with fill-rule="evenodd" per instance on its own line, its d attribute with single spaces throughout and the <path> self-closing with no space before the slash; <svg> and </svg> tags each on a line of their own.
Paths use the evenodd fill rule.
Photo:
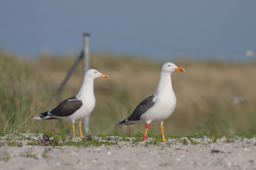
<svg viewBox="0 0 256 170">
<path fill-rule="evenodd" d="M 71 123 L 33 120 L 79 91 L 82 62 L 58 98 L 53 94 L 76 56 L 40 56 L 24 59 L 0 51 L 0 130 L 6 133 L 55 132 L 71 134 Z M 90 67 L 110 79 L 95 79 L 96 106 L 90 116 L 93 135 L 144 133 L 144 124 L 116 126 L 146 97 L 154 94 L 164 62 L 138 57 L 94 53 Z M 186 72 L 172 74 L 177 98 L 174 113 L 165 120 L 165 136 L 256 134 L 256 62 L 170 59 Z M 244 101 L 233 103 L 235 96 Z M 79 128 L 76 125 L 76 135 Z M 151 134 L 161 134 L 152 123 Z"/>
</svg>

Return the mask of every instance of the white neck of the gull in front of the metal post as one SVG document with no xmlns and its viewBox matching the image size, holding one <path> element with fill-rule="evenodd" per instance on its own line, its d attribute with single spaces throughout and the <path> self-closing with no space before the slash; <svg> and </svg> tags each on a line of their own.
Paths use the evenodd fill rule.
<svg viewBox="0 0 256 170">
<path fill-rule="evenodd" d="M 81 88 L 78 94 L 76 95 L 76 97 L 84 98 L 85 96 L 94 96 L 93 82 L 94 82 L 94 79 L 92 77 L 85 75 Z"/>
</svg>

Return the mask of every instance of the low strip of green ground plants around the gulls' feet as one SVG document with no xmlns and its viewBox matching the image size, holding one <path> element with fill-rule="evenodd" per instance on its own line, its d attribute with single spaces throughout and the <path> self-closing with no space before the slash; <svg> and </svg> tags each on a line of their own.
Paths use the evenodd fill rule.
<svg viewBox="0 0 256 170">
<path fill-rule="evenodd" d="M 7 136 L 0 138 L 2 142 L 0 142 L 0 146 L 52 146 L 53 148 L 61 149 L 65 146 L 74 146 L 74 147 L 103 147 L 103 146 L 111 146 L 118 145 L 118 147 L 122 146 L 136 146 L 138 144 L 144 145 L 145 147 L 149 145 L 162 146 L 163 144 L 176 145 L 196 145 L 196 144 L 212 144 L 212 143 L 233 143 L 233 142 L 241 142 L 247 141 L 250 137 L 244 136 L 209 136 L 205 140 L 203 140 L 199 135 L 186 136 L 186 137 L 178 137 L 178 136 L 166 136 L 168 140 L 167 143 L 162 142 L 162 136 L 158 135 L 150 135 L 151 139 L 147 139 L 146 142 L 142 142 L 141 134 L 137 134 L 134 136 L 128 137 L 119 137 L 119 136 L 100 136 L 99 139 L 95 138 L 72 138 L 72 136 L 66 136 L 63 134 L 55 134 L 55 133 L 47 133 L 47 136 L 50 138 L 50 142 L 45 141 L 42 137 L 37 136 L 35 133 L 31 136 Z M 198 138 L 198 139 L 196 139 Z M 110 148 L 110 147 L 108 147 Z M 45 156 L 48 156 L 48 151 L 51 150 L 50 147 L 45 148 Z M 44 157 L 44 156 L 43 156 Z M 45 157 L 46 158 L 46 157 Z"/>
</svg>

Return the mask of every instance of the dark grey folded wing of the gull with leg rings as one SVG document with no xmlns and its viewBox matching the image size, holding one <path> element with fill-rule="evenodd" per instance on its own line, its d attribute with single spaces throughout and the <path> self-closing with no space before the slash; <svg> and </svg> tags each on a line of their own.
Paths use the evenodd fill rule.
<svg viewBox="0 0 256 170">
<path fill-rule="evenodd" d="M 153 102 L 154 95 L 143 100 L 128 117 L 128 121 L 140 120 L 140 116 L 145 113 L 149 108 L 151 108 L 155 102 Z"/>
</svg>

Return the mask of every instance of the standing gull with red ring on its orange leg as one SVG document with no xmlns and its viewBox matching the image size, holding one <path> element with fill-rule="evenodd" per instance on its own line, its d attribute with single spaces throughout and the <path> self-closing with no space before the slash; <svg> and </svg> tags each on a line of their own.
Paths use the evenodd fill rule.
<svg viewBox="0 0 256 170">
<path fill-rule="evenodd" d="M 163 121 L 171 116 L 176 106 L 176 97 L 172 89 L 171 75 L 174 71 L 185 71 L 177 67 L 172 62 L 166 62 L 160 73 L 160 79 L 155 93 L 143 100 L 133 111 L 133 113 L 118 125 L 131 125 L 135 123 L 146 123 L 143 141 L 146 141 L 147 131 L 151 122 L 160 123 L 162 141 L 166 142 L 163 134 Z"/>
</svg>

